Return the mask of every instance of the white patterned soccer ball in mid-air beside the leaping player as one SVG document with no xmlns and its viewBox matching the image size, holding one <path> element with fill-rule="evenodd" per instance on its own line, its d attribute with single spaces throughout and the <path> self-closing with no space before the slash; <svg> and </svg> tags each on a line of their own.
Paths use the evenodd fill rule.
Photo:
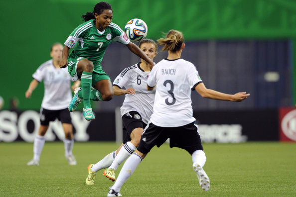
<svg viewBox="0 0 296 197">
<path fill-rule="evenodd" d="M 148 27 L 144 20 L 134 18 L 126 24 L 125 32 L 131 41 L 141 41 L 147 36 Z"/>
</svg>

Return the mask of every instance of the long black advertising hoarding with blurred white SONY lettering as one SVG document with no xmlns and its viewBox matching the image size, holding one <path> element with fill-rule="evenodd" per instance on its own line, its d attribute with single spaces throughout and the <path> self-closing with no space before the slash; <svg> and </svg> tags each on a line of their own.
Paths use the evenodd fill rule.
<svg viewBox="0 0 296 197">
<path fill-rule="evenodd" d="M 72 112 L 76 141 L 115 141 L 115 113 L 96 113 L 96 119 L 86 121 L 81 112 Z M 194 117 L 203 142 L 239 143 L 245 141 L 278 141 L 278 109 L 198 111 Z M 33 142 L 39 127 L 37 111 L 0 111 L 0 141 Z M 47 141 L 62 140 L 60 122 L 51 123 Z"/>
</svg>

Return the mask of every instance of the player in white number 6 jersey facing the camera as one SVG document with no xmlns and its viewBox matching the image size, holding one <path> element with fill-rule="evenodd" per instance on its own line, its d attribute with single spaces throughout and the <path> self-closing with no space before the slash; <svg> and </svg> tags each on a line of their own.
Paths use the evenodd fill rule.
<svg viewBox="0 0 296 197">
<path fill-rule="evenodd" d="M 153 61 L 157 54 L 157 44 L 151 39 L 144 39 L 139 43 L 139 48 Z M 115 181 L 115 171 L 138 147 L 141 135 L 152 114 L 154 91 L 147 90 L 147 80 L 150 74 L 148 62 L 141 59 L 131 67 L 124 69 L 113 83 L 114 95 L 126 95 L 121 107 L 125 137 L 122 145 L 99 161 L 88 167 L 87 185 L 93 185 L 96 173 L 109 167 L 104 175 Z M 126 89 L 122 89 L 122 88 Z M 122 148 L 123 147 L 123 148 Z"/>
</svg>

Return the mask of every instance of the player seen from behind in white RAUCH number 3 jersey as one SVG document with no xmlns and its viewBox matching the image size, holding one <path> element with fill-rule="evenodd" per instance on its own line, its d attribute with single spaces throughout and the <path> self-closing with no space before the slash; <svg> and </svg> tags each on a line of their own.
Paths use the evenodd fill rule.
<svg viewBox="0 0 296 197">
<path fill-rule="evenodd" d="M 110 188 L 108 197 L 122 196 L 119 193 L 122 185 L 152 147 L 161 146 L 167 138 L 171 148 L 179 147 L 192 156 L 193 170 L 196 172 L 199 185 L 204 191 L 208 191 L 210 180 L 203 170 L 206 156 L 195 118 L 192 116 L 191 91 L 197 91 L 203 98 L 236 102 L 250 96 L 246 93 L 228 95 L 206 89 L 195 66 L 180 59 L 185 47 L 181 32 L 170 30 L 165 38 L 158 40 L 158 44 L 164 45 L 162 50 L 167 50 L 168 56 L 154 66 L 148 78 L 148 90 L 153 90 L 157 86 L 153 113 L 137 150 L 124 164 L 115 184 Z"/>
</svg>

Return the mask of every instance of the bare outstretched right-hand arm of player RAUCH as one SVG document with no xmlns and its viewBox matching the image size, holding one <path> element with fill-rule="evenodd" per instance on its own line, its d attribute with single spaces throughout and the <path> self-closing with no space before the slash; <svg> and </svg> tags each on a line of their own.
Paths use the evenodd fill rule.
<svg viewBox="0 0 296 197">
<path fill-rule="evenodd" d="M 198 84 L 195 87 L 195 90 L 203 98 L 211 98 L 216 100 L 230 100 L 230 101 L 240 102 L 244 99 L 247 99 L 250 96 L 250 94 L 247 94 L 246 92 L 237 93 L 235 95 L 220 93 L 214 90 L 207 89 L 203 83 Z"/>
</svg>

